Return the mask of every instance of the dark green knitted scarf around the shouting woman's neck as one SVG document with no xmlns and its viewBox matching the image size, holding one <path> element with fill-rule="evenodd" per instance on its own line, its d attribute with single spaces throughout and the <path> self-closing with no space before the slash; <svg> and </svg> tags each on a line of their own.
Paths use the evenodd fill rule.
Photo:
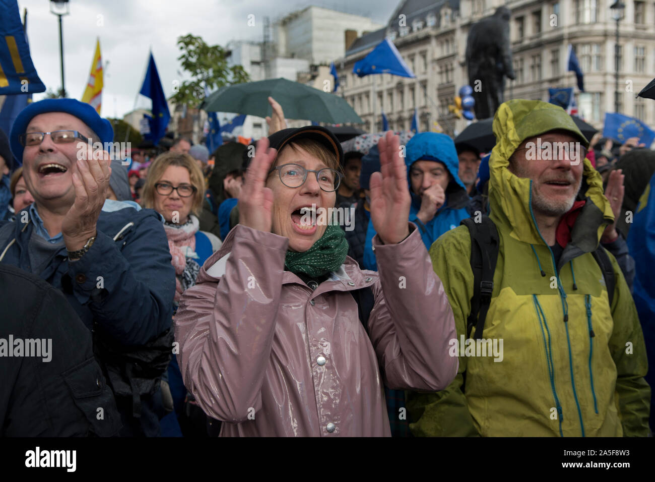
<svg viewBox="0 0 655 482">
<path fill-rule="evenodd" d="M 344 231 L 330 224 L 321 238 L 304 252 L 287 251 L 285 266 L 292 273 L 318 277 L 339 270 L 348 254 Z"/>
</svg>

